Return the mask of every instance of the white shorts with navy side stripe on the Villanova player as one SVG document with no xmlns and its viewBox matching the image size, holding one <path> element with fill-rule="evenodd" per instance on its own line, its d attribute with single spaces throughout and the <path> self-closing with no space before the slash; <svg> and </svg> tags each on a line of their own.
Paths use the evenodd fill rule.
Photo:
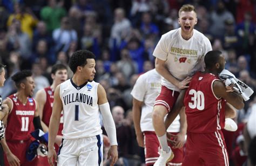
<svg viewBox="0 0 256 166">
<path fill-rule="evenodd" d="M 63 139 L 57 165 L 103 165 L 103 136 Z"/>
</svg>

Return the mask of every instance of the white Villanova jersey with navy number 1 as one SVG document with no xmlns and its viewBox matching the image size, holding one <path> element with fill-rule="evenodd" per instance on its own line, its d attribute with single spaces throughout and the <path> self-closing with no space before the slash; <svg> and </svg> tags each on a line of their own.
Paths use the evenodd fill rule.
<svg viewBox="0 0 256 166">
<path fill-rule="evenodd" d="M 63 105 L 63 139 L 79 139 L 102 134 L 98 106 L 99 83 L 85 82 L 81 86 L 72 79 L 60 84 Z"/>
</svg>

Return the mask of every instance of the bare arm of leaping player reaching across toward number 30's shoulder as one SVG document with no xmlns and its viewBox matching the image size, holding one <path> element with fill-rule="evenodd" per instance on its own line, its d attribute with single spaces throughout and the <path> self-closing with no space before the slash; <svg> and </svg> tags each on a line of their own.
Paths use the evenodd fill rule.
<svg viewBox="0 0 256 166">
<path fill-rule="evenodd" d="M 173 85 L 177 86 L 179 89 L 188 88 L 187 84 L 190 82 L 191 77 L 187 77 L 182 81 L 177 80 L 172 76 L 172 74 L 167 70 L 165 66 L 165 60 L 156 58 L 156 70 L 163 76 L 166 80 L 170 81 Z"/>
</svg>

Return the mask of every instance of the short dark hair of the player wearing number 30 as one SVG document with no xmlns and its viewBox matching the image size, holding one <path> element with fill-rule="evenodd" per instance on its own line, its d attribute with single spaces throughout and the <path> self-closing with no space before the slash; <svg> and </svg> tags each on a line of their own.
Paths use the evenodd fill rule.
<svg viewBox="0 0 256 166">
<path fill-rule="evenodd" d="M 219 62 L 220 55 L 222 53 L 220 51 L 209 51 L 205 55 L 205 67 L 211 69 L 216 63 Z"/>
</svg>

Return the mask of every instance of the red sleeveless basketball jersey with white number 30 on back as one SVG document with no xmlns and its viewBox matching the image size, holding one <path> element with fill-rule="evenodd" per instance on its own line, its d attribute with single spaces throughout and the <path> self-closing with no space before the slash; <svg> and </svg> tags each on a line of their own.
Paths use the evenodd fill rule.
<svg viewBox="0 0 256 166">
<path fill-rule="evenodd" d="M 219 78 L 211 73 L 194 74 L 184 98 L 188 132 L 212 133 L 224 128 L 225 100 L 213 93 L 216 80 Z"/>
</svg>

